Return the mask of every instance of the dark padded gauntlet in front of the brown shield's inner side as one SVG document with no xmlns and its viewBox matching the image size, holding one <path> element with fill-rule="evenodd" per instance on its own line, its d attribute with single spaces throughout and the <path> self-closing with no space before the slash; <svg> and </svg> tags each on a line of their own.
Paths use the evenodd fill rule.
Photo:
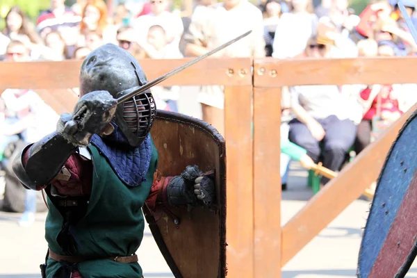
<svg viewBox="0 0 417 278">
<path fill-rule="evenodd" d="M 167 199 L 171 206 L 211 204 L 215 199 L 214 181 L 201 177 L 196 165 L 187 166 L 180 176 L 173 177 L 167 186 Z"/>
</svg>

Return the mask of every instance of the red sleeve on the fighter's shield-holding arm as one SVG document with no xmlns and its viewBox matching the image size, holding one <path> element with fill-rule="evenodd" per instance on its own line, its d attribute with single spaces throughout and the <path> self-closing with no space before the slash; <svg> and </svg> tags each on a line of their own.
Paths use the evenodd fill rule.
<svg viewBox="0 0 417 278">
<path fill-rule="evenodd" d="M 157 210 L 158 204 L 167 205 L 167 186 L 172 177 L 162 177 L 161 172 L 156 170 L 152 188 L 145 203 L 153 213 Z"/>
</svg>

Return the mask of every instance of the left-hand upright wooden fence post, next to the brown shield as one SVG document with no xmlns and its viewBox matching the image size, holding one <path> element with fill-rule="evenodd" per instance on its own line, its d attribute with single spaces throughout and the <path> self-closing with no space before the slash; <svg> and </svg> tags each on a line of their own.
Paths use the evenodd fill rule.
<svg viewBox="0 0 417 278">
<path fill-rule="evenodd" d="M 252 86 L 224 90 L 227 276 L 254 277 Z"/>
</svg>

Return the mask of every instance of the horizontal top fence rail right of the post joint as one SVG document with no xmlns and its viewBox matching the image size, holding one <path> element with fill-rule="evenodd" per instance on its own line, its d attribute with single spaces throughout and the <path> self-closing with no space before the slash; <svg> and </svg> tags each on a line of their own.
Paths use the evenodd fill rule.
<svg viewBox="0 0 417 278">
<path fill-rule="evenodd" d="M 417 83 L 417 57 L 256 59 L 254 86 Z"/>
</svg>

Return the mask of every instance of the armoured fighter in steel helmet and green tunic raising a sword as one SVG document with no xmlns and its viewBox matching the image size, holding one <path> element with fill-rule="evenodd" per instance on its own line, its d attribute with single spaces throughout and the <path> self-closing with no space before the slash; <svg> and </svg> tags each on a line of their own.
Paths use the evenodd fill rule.
<svg viewBox="0 0 417 278">
<path fill-rule="evenodd" d="M 42 277 L 142 277 L 135 254 L 142 206 L 205 206 L 214 198 L 213 180 L 195 165 L 176 177 L 158 172 L 150 90 L 116 101 L 145 83 L 139 63 L 120 47 L 92 51 L 81 65 L 73 113 L 15 159 L 24 187 L 47 193 Z"/>
</svg>

